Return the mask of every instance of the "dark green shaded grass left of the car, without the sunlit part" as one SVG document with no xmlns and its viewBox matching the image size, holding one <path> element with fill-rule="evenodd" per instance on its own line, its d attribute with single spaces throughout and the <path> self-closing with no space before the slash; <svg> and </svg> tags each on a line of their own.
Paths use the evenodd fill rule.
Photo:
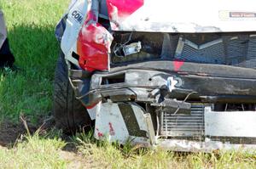
<svg viewBox="0 0 256 169">
<path fill-rule="evenodd" d="M 10 48 L 20 70 L 0 72 L 1 121 L 17 123 L 22 114 L 37 124 L 52 110 L 55 62 L 59 54 L 54 30 L 54 25 L 15 25 L 9 30 Z"/>
</svg>

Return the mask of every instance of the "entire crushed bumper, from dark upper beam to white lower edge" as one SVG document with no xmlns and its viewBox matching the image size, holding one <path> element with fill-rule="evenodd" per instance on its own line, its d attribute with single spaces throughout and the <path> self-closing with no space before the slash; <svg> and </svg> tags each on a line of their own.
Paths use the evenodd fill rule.
<svg viewBox="0 0 256 169">
<path fill-rule="evenodd" d="M 84 82 L 76 83 L 77 93 Z M 95 105 L 88 111 L 98 139 L 177 151 L 256 148 L 255 108 L 214 110 L 215 104 L 255 104 L 256 70 L 154 61 L 96 72 L 89 82 L 78 98 Z"/>
</svg>

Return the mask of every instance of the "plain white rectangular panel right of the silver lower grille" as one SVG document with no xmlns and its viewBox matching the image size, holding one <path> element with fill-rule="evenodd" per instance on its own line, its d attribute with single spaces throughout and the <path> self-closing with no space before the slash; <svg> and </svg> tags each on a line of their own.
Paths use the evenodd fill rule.
<svg viewBox="0 0 256 169">
<path fill-rule="evenodd" d="M 207 136 L 256 138 L 256 111 L 215 112 L 206 108 Z"/>
</svg>

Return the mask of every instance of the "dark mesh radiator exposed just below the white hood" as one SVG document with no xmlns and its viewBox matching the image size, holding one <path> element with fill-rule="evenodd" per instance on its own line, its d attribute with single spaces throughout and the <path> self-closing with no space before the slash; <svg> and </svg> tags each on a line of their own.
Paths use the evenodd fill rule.
<svg viewBox="0 0 256 169">
<path fill-rule="evenodd" d="M 207 36 L 210 38 L 212 35 Z M 202 37 L 197 38 L 197 42 L 193 42 L 195 39 L 180 37 L 175 58 L 196 63 L 256 68 L 255 35 L 222 36 L 200 44 Z"/>
</svg>

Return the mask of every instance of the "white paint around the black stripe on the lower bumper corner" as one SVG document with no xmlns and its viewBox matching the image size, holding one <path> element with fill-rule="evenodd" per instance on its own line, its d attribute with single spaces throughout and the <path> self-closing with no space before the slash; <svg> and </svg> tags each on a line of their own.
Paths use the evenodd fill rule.
<svg viewBox="0 0 256 169">
<path fill-rule="evenodd" d="M 137 106 L 132 106 L 132 109 L 135 112 L 140 129 L 148 132 L 143 110 Z M 113 127 L 113 131 L 110 125 Z M 103 135 L 103 137 L 101 137 L 101 135 Z M 102 109 L 96 112 L 95 138 L 108 138 L 110 142 L 118 141 L 120 144 L 125 144 L 128 140 L 132 140 L 132 143 L 146 144 L 149 146 L 148 138 L 139 138 L 129 135 L 119 106 L 113 103 L 102 104 Z"/>
</svg>

